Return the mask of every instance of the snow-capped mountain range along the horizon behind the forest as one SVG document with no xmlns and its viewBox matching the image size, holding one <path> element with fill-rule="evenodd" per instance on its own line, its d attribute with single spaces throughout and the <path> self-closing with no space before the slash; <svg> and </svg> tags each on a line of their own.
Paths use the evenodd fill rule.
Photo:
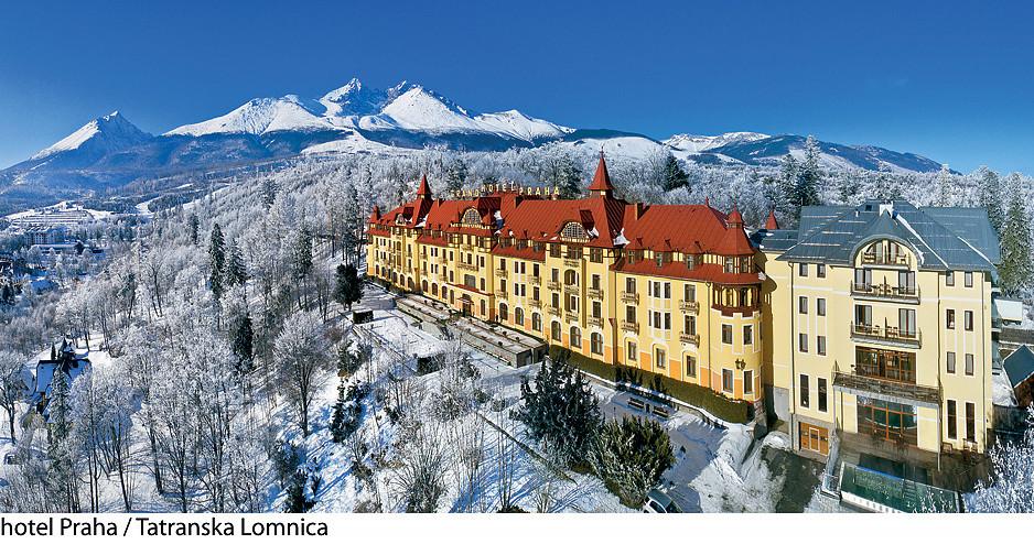
<svg viewBox="0 0 1034 544">
<path fill-rule="evenodd" d="M 151 135 L 118 112 L 100 117 L 31 159 L 0 171 L 0 194 L 65 195 L 168 173 L 239 166 L 297 154 L 406 153 L 429 145 L 504 151 L 547 142 L 594 154 L 645 159 L 663 153 L 700 164 L 775 165 L 805 139 L 729 132 L 656 140 L 608 129 L 574 129 L 515 109 L 475 112 L 419 84 L 388 89 L 352 79 L 321 97 L 255 98 L 225 115 Z M 837 168 L 936 171 L 929 159 L 871 145 L 819 142 Z M 64 193 L 63 193 L 64 192 Z"/>
</svg>

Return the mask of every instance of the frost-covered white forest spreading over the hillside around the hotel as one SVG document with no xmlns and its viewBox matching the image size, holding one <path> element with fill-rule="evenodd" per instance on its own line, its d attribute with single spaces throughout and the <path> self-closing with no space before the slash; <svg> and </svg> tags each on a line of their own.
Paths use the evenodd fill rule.
<svg viewBox="0 0 1034 544">
<path fill-rule="evenodd" d="M 0 475 L 0 511 L 496 511 L 513 505 L 521 477 L 536 488 L 600 487 L 515 468 L 527 455 L 505 434 L 519 431 L 476 415 L 500 393 L 463 370 L 462 350 L 446 349 L 445 368 L 420 376 L 409 356 L 351 326 L 337 271 L 362 273 L 371 207 L 411 198 L 422 173 L 438 195 L 511 181 L 574 196 L 594 161 L 559 145 L 313 156 L 152 210 L 58 292 L 2 306 L 0 399 L 14 402 L 0 403 L 13 422 L 0 426 L 0 444 L 17 440 L 22 458 Z M 830 171 L 808 153 L 778 168 L 666 154 L 607 164 L 626 199 L 708 198 L 736 205 L 752 227 L 771 209 L 793 227 L 801 205 L 869 198 L 987 206 L 1003 235 L 1006 292 L 1032 298 L 1027 176 Z M 26 417 L 35 406 L 20 383 L 25 362 L 49 358 L 66 336 L 88 341 L 91 366 L 72 383 L 55 374 L 47 432 Z M 328 487 L 348 491 L 320 503 Z M 524 500 L 530 509 L 550 499 Z M 616 499 L 593 508 L 622 509 Z"/>
</svg>

